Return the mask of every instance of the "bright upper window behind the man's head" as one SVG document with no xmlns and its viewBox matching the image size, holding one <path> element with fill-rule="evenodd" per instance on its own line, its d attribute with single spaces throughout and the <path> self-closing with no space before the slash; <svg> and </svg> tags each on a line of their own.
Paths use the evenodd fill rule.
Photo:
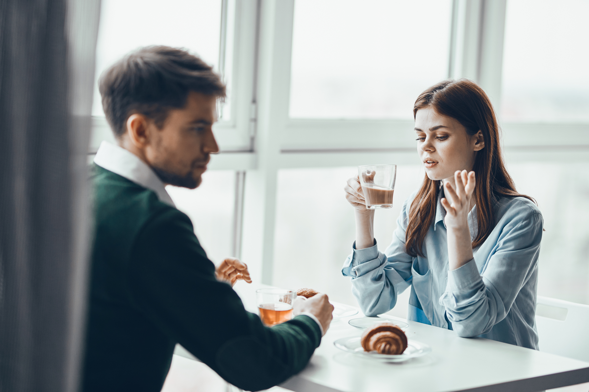
<svg viewBox="0 0 589 392">
<path fill-rule="evenodd" d="M 103 0 L 96 81 L 106 68 L 141 46 L 185 48 L 212 65 L 227 85 L 219 121 L 213 125 L 221 152 L 251 151 L 256 17 L 255 0 Z M 101 141 L 113 141 L 97 84 L 92 116 L 90 153 Z"/>
</svg>

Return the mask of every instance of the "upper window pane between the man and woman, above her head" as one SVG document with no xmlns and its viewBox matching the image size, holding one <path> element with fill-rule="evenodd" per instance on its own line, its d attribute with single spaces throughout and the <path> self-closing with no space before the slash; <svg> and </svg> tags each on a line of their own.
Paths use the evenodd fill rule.
<svg viewBox="0 0 589 392">
<path fill-rule="evenodd" d="M 290 117 L 412 118 L 448 77 L 452 1 L 296 0 Z"/>
</svg>

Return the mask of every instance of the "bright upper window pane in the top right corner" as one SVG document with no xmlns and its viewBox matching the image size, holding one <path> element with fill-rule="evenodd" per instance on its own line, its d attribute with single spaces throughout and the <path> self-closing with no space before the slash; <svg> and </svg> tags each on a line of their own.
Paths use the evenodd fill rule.
<svg viewBox="0 0 589 392">
<path fill-rule="evenodd" d="M 589 122 L 589 2 L 509 0 L 505 121 Z"/>
</svg>

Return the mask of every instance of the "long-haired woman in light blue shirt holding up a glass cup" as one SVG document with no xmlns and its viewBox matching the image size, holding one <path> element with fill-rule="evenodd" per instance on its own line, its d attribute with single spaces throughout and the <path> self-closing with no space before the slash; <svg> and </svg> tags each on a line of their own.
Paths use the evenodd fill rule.
<svg viewBox="0 0 589 392">
<path fill-rule="evenodd" d="M 345 187 L 356 215 L 342 269 L 352 293 L 373 316 L 411 285 L 409 320 L 537 349 L 542 214 L 505 170 L 489 98 L 474 82 L 444 81 L 419 95 L 413 116 L 426 177 L 384 254 L 358 178 Z"/>
</svg>

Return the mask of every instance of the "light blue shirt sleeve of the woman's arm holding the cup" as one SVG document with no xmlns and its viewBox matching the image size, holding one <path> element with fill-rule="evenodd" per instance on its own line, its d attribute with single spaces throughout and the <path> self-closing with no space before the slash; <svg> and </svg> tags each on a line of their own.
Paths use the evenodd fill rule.
<svg viewBox="0 0 589 392">
<path fill-rule="evenodd" d="M 409 198 L 403 204 L 397 219 L 391 245 L 385 253 L 378 251 L 378 245 L 356 250 L 343 264 L 342 274 L 352 277 L 352 294 L 358 300 L 362 312 L 375 316 L 395 307 L 397 295 L 411 285 L 413 258 L 405 253 L 405 231 L 408 222 Z"/>
</svg>

